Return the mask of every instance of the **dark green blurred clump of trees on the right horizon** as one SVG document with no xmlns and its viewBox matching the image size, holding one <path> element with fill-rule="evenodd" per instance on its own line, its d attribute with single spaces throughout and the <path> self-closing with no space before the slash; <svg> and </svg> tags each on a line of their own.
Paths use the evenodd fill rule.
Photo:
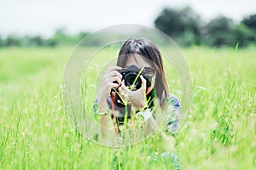
<svg viewBox="0 0 256 170">
<path fill-rule="evenodd" d="M 245 16 L 236 23 L 220 15 L 208 22 L 192 8 L 164 8 L 154 20 L 154 26 L 183 46 L 245 47 L 256 42 L 256 14 Z"/>
</svg>

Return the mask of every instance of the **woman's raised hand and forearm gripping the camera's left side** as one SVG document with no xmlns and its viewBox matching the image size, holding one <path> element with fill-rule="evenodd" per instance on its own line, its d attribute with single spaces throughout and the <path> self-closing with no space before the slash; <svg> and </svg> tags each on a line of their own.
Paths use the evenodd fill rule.
<svg viewBox="0 0 256 170">
<path fill-rule="evenodd" d="M 97 97 L 98 106 L 101 110 L 108 110 L 107 99 L 112 88 L 119 88 L 122 83 L 122 75 L 118 70 L 122 67 L 110 66 L 107 73 L 104 75 L 102 80 L 102 86 Z"/>
</svg>

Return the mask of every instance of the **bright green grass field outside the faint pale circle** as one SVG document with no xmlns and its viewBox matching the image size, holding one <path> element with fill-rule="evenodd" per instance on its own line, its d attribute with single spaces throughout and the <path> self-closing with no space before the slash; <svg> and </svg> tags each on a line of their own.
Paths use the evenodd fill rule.
<svg viewBox="0 0 256 170">
<path fill-rule="evenodd" d="M 0 169 L 111 168 L 113 148 L 84 139 L 63 111 L 61 81 L 71 51 L 0 48 Z M 184 169 L 255 169 L 255 53 L 183 49 L 193 77 L 189 116 L 176 136 Z M 176 87 L 171 91 L 179 96 Z M 152 137 L 119 149 L 119 163 L 123 169 L 164 169 L 142 151 L 157 147 Z"/>
</svg>

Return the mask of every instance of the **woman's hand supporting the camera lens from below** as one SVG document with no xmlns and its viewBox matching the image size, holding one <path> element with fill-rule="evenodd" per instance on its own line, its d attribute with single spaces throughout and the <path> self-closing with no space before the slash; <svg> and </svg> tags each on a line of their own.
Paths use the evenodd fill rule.
<svg viewBox="0 0 256 170">
<path fill-rule="evenodd" d="M 140 110 L 148 106 L 146 101 L 146 84 L 147 81 L 143 78 L 143 76 L 140 76 L 142 80 L 142 87 L 132 91 L 129 88 L 125 87 L 125 81 L 122 81 L 122 85 L 118 88 L 118 92 L 120 95 L 120 98 L 123 100 L 123 102 L 131 103 L 131 105 L 134 107 L 134 109 Z"/>
</svg>

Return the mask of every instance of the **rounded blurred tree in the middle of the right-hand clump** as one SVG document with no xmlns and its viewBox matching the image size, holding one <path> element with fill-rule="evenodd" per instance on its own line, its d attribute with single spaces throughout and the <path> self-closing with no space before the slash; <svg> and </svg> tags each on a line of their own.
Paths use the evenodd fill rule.
<svg viewBox="0 0 256 170">
<path fill-rule="evenodd" d="M 236 44 L 235 23 L 233 20 L 218 16 L 204 27 L 203 43 L 210 46 L 222 46 Z"/>
</svg>

